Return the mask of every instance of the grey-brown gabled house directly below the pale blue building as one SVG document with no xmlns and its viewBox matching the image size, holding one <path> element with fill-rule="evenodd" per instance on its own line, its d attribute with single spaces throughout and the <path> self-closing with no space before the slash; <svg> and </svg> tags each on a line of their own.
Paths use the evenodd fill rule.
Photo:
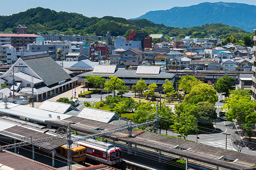
<svg viewBox="0 0 256 170">
<path fill-rule="evenodd" d="M 130 63 L 131 65 L 139 65 L 144 59 L 144 52 L 134 48 L 129 49 L 120 54 L 120 63 Z"/>
</svg>

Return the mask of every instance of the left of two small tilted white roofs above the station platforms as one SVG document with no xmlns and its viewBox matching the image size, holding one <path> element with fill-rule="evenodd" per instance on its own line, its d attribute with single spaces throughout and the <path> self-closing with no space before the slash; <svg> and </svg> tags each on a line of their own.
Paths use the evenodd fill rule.
<svg viewBox="0 0 256 170">
<path fill-rule="evenodd" d="M 61 114 L 65 114 L 69 109 L 79 111 L 69 103 L 62 103 L 58 101 L 49 101 L 49 100 L 46 100 L 45 102 L 43 102 L 43 104 L 38 108 L 42 110 L 47 110 L 50 112 L 61 113 Z"/>
</svg>

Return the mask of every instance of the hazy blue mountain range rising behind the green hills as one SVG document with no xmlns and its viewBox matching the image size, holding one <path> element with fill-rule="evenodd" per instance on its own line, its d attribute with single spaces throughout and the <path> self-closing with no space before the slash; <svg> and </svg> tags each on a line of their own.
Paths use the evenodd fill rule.
<svg viewBox="0 0 256 170">
<path fill-rule="evenodd" d="M 179 28 L 222 23 L 252 32 L 256 29 L 256 6 L 243 3 L 204 2 L 193 6 L 150 11 L 135 19 L 148 19 L 155 24 Z"/>
</svg>

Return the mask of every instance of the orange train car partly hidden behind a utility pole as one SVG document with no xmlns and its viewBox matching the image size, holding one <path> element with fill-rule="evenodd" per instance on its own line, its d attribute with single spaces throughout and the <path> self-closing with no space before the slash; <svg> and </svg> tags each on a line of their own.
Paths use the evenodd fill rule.
<svg viewBox="0 0 256 170">
<path fill-rule="evenodd" d="M 56 149 L 56 152 L 62 156 L 67 157 L 67 145 L 62 145 L 61 147 Z M 84 161 L 86 158 L 86 148 L 80 145 L 74 145 L 71 146 L 71 157 L 72 161 L 74 162 L 81 162 Z"/>
</svg>

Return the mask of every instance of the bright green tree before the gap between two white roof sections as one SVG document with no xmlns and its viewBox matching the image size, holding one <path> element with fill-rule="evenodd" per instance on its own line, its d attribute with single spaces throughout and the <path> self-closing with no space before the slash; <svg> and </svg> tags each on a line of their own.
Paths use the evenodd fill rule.
<svg viewBox="0 0 256 170">
<path fill-rule="evenodd" d="M 122 81 L 120 78 L 116 76 L 109 76 L 110 80 L 108 82 L 105 82 L 105 88 L 104 90 L 110 90 L 114 93 L 115 96 L 115 91 L 119 90 L 123 84 L 124 81 Z"/>
</svg>

